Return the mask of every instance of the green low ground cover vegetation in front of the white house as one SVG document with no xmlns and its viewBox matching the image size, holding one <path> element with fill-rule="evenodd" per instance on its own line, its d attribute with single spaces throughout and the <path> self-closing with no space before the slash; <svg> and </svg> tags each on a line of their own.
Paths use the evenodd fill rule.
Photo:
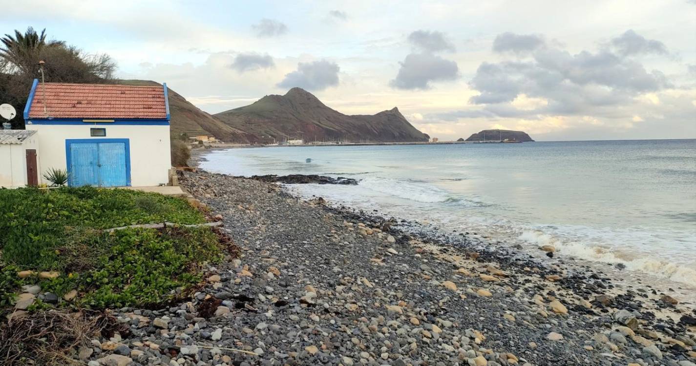
<svg viewBox="0 0 696 366">
<path fill-rule="evenodd" d="M 70 305 L 87 308 L 147 305 L 181 294 L 198 283 L 203 262 L 221 258 L 214 229 L 105 230 L 164 221 L 190 225 L 206 218 L 186 200 L 156 193 L 0 189 L 0 307 L 11 308 L 22 285 L 35 284 L 58 297 L 76 290 Z M 37 301 L 29 310 L 46 305 Z"/>
</svg>

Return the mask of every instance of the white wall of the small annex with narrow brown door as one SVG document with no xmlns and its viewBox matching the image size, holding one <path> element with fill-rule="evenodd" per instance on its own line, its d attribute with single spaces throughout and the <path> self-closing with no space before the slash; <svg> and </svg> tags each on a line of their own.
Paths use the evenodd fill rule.
<svg viewBox="0 0 696 366">
<path fill-rule="evenodd" d="M 0 145 L 0 187 L 17 188 L 26 186 L 26 150 L 38 150 L 38 134 L 34 134 L 21 144 Z M 39 180 L 41 180 L 41 165 L 36 159 Z"/>
</svg>

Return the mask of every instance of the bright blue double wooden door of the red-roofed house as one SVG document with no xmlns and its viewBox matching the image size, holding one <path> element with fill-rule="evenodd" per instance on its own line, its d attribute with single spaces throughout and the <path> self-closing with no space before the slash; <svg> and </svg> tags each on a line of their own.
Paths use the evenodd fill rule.
<svg viewBox="0 0 696 366">
<path fill-rule="evenodd" d="M 129 143 L 125 138 L 66 141 L 70 186 L 129 186 Z"/>
</svg>

